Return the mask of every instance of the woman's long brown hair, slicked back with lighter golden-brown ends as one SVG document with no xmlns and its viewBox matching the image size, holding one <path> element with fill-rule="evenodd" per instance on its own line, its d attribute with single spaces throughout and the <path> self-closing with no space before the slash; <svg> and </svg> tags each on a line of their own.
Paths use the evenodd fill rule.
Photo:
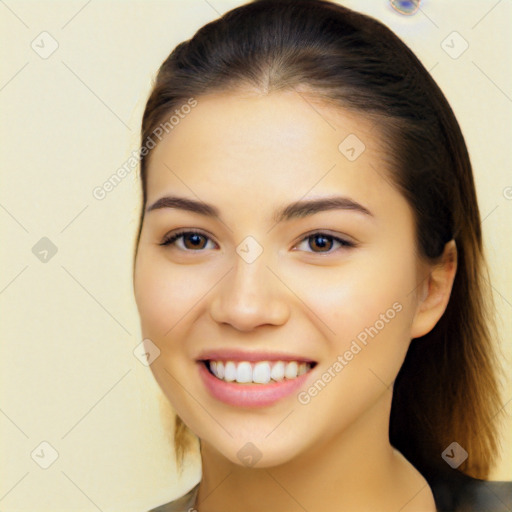
<svg viewBox="0 0 512 512">
<path fill-rule="evenodd" d="M 190 98 L 250 87 L 304 87 L 371 118 L 394 163 L 392 180 L 415 216 L 417 245 L 436 262 L 454 239 L 458 268 L 447 309 L 412 340 L 394 383 L 390 442 L 417 468 L 437 464 L 457 441 L 460 470 L 488 477 L 501 409 L 494 309 L 469 155 L 443 93 L 384 24 L 322 0 L 256 0 L 232 9 L 180 43 L 161 65 L 142 119 L 142 141 Z M 141 154 L 143 209 L 150 153 Z M 179 467 L 188 429 L 179 416 Z"/>
</svg>

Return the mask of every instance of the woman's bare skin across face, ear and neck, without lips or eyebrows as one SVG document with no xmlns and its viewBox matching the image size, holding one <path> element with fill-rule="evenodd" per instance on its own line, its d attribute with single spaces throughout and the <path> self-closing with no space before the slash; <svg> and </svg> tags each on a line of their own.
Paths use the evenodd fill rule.
<svg viewBox="0 0 512 512">
<path fill-rule="evenodd" d="M 446 308 L 456 248 L 431 266 L 416 251 L 410 206 L 392 185 L 381 136 L 364 117 L 294 91 L 245 91 L 198 104 L 153 150 L 148 201 L 173 194 L 215 205 L 220 218 L 163 208 L 145 214 L 134 288 L 144 338 L 161 351 L 151 370 L 201 439 L 200 512 L 434 511 L 420 473 L 389 444 L 392 383 L 410 340 Z M 355 134 L 349 161 L 338 145 Z M 342 195 L 367 208 L 330 210 L 275 224 L 275 209 Z M 190 237 L 161 246 L 179 228 Z M 322 248 L 307 238 L 332 239 Z M 237 246 L 252 236 L 262 254 Z M 194 248 L 198 247 L 198 248 Z M 303 390 L 365 328 L 401 308 L 307 404 L 297 394 L 261 409 L 210 396 L 196 358 L 212 348 L 288 351 L 318 364 Z M 261 459 L 237 456 L 253 443 Z"/>
</svg>

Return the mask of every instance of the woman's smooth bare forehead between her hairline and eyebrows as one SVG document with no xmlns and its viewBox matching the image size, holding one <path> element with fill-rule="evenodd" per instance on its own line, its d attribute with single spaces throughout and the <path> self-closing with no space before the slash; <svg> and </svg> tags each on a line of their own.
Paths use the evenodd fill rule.
<svg viewBox="0 0 512 512">
<path fill-rule="evenodd" d="M 171 191 L 244 198 L 231 204 L 260 210 L 308 194 L 337 192 L 370 203 L 398 194 L 379 130 L 362 115 L 295 91 L 196 100 L 152 152 L 148 203 Z"/>
</svg>

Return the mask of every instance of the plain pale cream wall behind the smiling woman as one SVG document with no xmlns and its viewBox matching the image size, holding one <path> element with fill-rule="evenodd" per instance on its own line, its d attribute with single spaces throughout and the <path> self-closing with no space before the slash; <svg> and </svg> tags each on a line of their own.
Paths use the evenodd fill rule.
<svg viewBox="0 0 512 512">
<path fill-rule="evenodd" d="M 197 458 L 177 478 L 160 391 L 133 354 L 136 172 L 103 200 L 92 191 L 137 148 L 151 79 L 170 50 L 241 3 L 0 2 L 2 511 L 143 512 L 200 478 Z M 343 3 L 395 30 L 458 116 L 510 373 L 512 3 L 425 0 L 411 17 L 385 0 Z M 457 59 L 441 46 L 453 31 L 469 44 Z M 446 41 L 462 48 L 457 35 Z M 43 237 L 57 248 L 46 262 L 32 252 Z M 511 398 L 509 382 L 509 415 Z M 494 479 L 512 479 L 511 426 Z"/>
</svg>

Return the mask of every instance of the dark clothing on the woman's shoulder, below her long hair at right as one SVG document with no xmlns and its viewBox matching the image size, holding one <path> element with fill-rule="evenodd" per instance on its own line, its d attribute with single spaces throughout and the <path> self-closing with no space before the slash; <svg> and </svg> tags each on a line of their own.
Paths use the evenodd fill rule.
<svg viewBox="0 0 512 512">
<path fill-rule="evenodd" d="M 439 512 L 508 512 L 512 509 L 512 482 L 472 478 L 447 468 L 425 474 Z"/>
</svg>

